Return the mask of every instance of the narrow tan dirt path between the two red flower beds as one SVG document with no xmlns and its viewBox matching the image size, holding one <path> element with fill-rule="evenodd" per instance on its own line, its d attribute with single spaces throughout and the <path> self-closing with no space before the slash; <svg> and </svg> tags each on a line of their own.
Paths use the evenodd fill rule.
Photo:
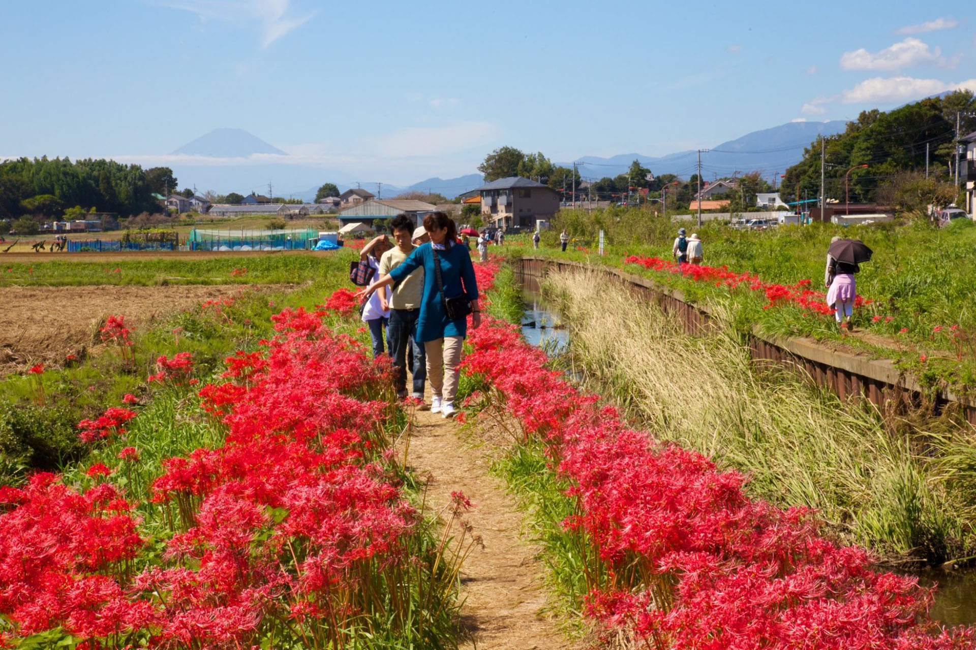
<svg viewBox="0 0 976 650">
<path fill-rule="evenodd" d="M 484 548 L 474 549 L 461 571 L 462 610 L 472 643 L 484 650 L 583 648 L 558 629 L 542 610 L 547 605 L 542 548 L 521 535 L 523 515 L 500 478 L 489 474 L 488 454 L 461 440 L 460 425 L 440 415 L 418 412 L 409 464 L 431 476 L 427 504 L 449 509 L 451 492 L 460 490 L 474 504 L 466 517 Z"/>
</svg>

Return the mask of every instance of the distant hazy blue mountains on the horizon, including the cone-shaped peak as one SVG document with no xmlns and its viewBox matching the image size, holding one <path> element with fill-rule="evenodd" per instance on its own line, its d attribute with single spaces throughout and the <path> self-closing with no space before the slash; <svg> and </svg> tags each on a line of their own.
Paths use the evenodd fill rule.
<svg viewBox="0 0 976 650">
<path fill-rule="evenodd" d="M 818 134 L 838 134 L 846 128 L 843 121 L 791 122 L 789 124 L 755 131 L 728 142 L 722 142 L 702 154 L 702 175 L 706 178 L 731 176 L 734 172 L 762 172 L 764 176 L 785 172 L 803 158 L 803 148 L 810 145 Z M 214 189 L 217 192 L 251 191 L 267 193 L 267 184 L 275 183 L 275 196 L 292 196 L 305 201 L 315 198 L 319 185 L 333 182 L 340 191 L 361 186 L 383 198 L 392 198 L 406 192 L 437 192 L 453 198 L 482 184 L 480 173 L 468 173 L 454 178 L 427 178 L 412 185 L 399 186 L 384 183 L 357 185 L 348 172 L 326 170 L 304 164 L 290 164 L 288 154 L 268 144 L 260 137 L 241 129 L 215 129 L 208 134 L 187 142 L 173 152 L 175 155 L 199 156 L 200 162 L 173 164 L 173 171 L 181 186 L 196 185 L 200 191 Z M 255 154 L 282 156 L 280 162 L 248 161 Z M 240 165 L 215 165 L 209 158 L 239 158 Z M 578 161 L 584 178 L 602 178 L 627 173 L 630 163 L 640 164 L 660 175 L 674 173 L 687 178 L 697 171 L 697 151 L 679 151 L 666 156 L 651 157 L 637 153 L 620 154 L 610 158 L 582 156 Z M 558 163 L 572 167 L 572 163 Z M 300 189 L 308 188 L 308 189 Z"/>
</svg>

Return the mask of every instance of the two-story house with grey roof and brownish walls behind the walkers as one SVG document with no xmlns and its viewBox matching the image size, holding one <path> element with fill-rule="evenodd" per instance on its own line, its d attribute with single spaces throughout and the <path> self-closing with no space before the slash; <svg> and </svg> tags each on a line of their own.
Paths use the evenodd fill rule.
<svg viewBox="0 0 976 650">
<path fill-rule="evenodd" d="M 535 228 L 559 210 L 559 194 L 549 185 L 521 176 L 493 180 L 475 190 L 481 196 L 481 218 L 499 227 Z"/>
</svg>

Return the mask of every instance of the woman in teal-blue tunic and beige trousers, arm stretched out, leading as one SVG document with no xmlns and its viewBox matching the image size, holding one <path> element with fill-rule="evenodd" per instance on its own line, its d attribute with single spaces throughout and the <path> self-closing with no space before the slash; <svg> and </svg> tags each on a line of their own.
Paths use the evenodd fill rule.
<svg viewBox="0 0 976 650">
<path fill-rule="evenodd" d="M 437 286 L 434 255 L 440 260 L 444 297 L 454 298 L 462 294 L 468 297 L 473 312 L 473 327 L 481 325 L 478 285 L 468 248 L 458 244 L 458 227 L 451 217 L 444 212 L 430 212 L 424 217 L 424 229 L 430 235 L 430 243 L 414 249 L 399 266 L 358 295 L 365 297 L 379 287 L 400 282 L 414 270 L 424 268 L 424 293 L 417 322 L 417 340 L 424 344 L 427 353 L 427 380 L 433 395 L 430 411 L 449 418 L 455 414 L 458 365 L 468 333 L 468 319 L 452 320 L 444 312 L 441 291 Z"/>
</svg>

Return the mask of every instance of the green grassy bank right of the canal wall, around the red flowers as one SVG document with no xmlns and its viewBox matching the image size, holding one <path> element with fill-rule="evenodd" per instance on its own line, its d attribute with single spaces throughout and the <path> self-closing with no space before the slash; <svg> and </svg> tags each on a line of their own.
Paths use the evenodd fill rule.
<svg viewBox="0 0 976 650">
<path fill-rule="evenodd" d="M 679 226 L 698 230 L 704 241 L 705 264 L 727 266 L 735 273 L 757 275 L 764 283 L 792 286 L 809 279 L 824 291 L 826 250 L 834 235 L 863 240 L 874 258 L 857 276 L 858 293 L 872 303 L 855 311 L 854 325 L 871 336 L 842 336 L 833 319 L 813 315 L 793 303 L 769 301 L 762 291 L 746 285 L 715 287 L 680 274 L 646 270 L 626 264 L 625 256 L 657 256 L 671 260 L 671 243 Z M 574 234 L 573 249 L 558 249 L 558 230 Z M 596 233 L 606 232 L 606 254 L 596 253 Z M 624 268 L 680 289 L 685 297 L 707 308 L 728 305 L 731 322 L 743 329 L 755 326 L 765 334 L 811 336 L 843 341 L 877 358 L 897 360 L 923 382 L 946 381 L 957 388 L 976 385 L 976 309 L 971 293 L 976 277 L 976 224 L 959 221 L 946 229 L 927 224 L 840 227 L 831 224 L 785 226 L 760 232 L 732 230 L 706 223 L 655 220 L 638 210 L 593 212 L 564 210 L 547 232 L 543 248 L 533 250 L 523 238 L 512 238 L 509 251 L 557 256 L 590 264 Z M 958 325 L 954 330 L 953 325 Z"/>
</svg>

